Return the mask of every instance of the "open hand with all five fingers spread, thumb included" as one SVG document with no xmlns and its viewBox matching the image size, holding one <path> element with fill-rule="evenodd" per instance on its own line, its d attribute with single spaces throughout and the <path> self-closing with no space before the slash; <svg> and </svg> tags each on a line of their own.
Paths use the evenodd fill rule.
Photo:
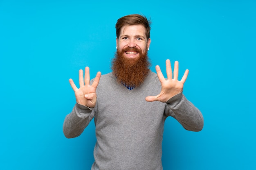
<svg viewBox="0 0 256 170">
<path fill-rule="evenodd" d="M 168 59 L 166 60 L 166 74 L 167 79 L 164 78 L 159 65 L 155 67 L 157 71 L 157 76 L 159 81 L 162 85 L 161 92 L 157 96 L 147 96 L 146 101 L 153 102 L 153 101 L 161 101 L 167 102 L 170 98 L 179 94 L 183 91 L 183 85 L 186 81 L 186 78 L 189 74 L 189 70 L 186 70 L 181 81 L 178 81 L 179 75 L 179 63 L 175 61 L 174 63 L 174 71 L 172 72 L 171 68 L 171 61 Z"/>
</svg>

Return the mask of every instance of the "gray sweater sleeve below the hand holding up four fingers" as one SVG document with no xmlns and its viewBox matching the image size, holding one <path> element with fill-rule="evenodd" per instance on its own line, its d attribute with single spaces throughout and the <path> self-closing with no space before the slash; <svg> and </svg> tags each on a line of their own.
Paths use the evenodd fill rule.
<svg viewBox="0 0 256 170">
<path fill-rule="evenodd" d="M 65 117 L 63 123 L 63 133 L 65 137 L 74 138 L 81 135 L 92 118 L 94 118 L 94 108 L 76 103 L 72 112 Z"/>
</svg>

